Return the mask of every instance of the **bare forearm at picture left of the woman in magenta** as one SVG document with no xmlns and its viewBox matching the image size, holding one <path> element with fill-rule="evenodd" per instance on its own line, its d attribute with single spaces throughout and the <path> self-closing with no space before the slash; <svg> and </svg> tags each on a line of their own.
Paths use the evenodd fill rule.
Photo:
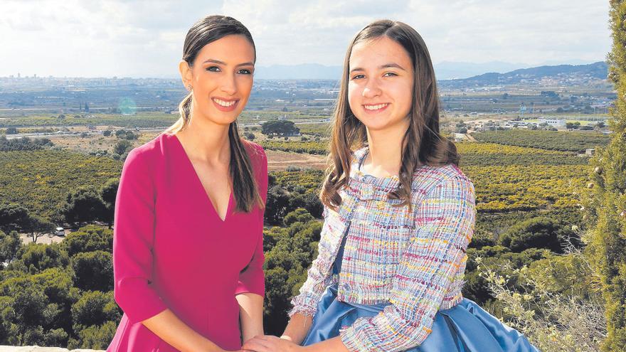
<svg viewBox="0 0 626 352">
<path fill-rule="evenodd" d="M 182 352 L 223 352 L 223 349 L 191 329 L 169 309 L 142 321 L 161 340 Z"/>
</svg>

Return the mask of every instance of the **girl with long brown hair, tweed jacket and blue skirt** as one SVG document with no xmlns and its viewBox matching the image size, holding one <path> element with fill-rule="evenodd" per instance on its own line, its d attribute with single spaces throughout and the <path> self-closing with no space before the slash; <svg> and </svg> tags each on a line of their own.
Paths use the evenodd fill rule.
<svg viewBox="0 0 626 352">
<path fill-rule="evenodd" d="M 405 23 L 376 21 L 346 53 L 322 188 L 318 257 L 265 351 L 537 351 L 462 297 L 474 186 L 439 132 L 433 64 Z"/>
</svg>

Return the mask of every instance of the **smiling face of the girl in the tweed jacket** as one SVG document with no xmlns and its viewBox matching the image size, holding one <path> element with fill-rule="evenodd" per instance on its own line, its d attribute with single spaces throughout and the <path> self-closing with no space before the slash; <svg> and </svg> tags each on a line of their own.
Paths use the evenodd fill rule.
<svg viewBox="0 0 626 352">
<path fill-rule="evenodd" d="M 409 125 L 413 101 L 413 64 L 400 44 L 386 36 L 352 47 L 348 102 L 368 131 Z"/>
</svg>

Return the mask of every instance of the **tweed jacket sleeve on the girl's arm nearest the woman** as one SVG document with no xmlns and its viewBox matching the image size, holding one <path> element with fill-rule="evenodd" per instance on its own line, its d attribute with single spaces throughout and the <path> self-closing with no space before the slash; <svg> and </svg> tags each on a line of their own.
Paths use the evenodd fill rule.
<svg viewBox="0 0 626 352">
<path fill-rule="evenodd" d="M 328 211 L 328 208 L 324 206 L 324 225 L 322 226 L 322 233 L 320 233 L 322 239 L 327 238 L 327 231 L 329 231 Z M 320 240 L 317 245 L 317 258 L 313 260 L 307 271 L 307 281 L 300 287 L 299 294 L 291 300 L 292 309 L 288 313 L 289 316 L 297 313 L 305 316 L 315 315 L 319 300 L 322 299 L 324 291 L 332 282 L 331 272 L 323 270 L 323 268 L 330 267 L 329 262 L 327 262 L 328 256 L 322 254 L 327 251 L 327 248 L 324 248 L 324 240 Z"/>
</svg>

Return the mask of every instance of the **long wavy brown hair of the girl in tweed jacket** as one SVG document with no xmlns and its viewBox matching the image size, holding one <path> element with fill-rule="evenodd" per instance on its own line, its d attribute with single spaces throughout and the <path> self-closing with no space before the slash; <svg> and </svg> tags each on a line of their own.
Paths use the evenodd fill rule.
<svg viewBox="0 0 626 352">
<path fill-rule="evenodd" d="M 437 82 L 424 40 L 415 29 L 405 23 L 390 20 L 374 21 L 356 33 L 344 59 L 344 73 L 341 77 L 334 124 L 331 129 L 329 168 L 320 194 L 322 203 L 332 209 L 341 204 L 339 190 L 349 181 L 353 149 L 367 146 L 366 127 L 354 116 L 348 103 L 350 55 L 356 43 L 381 36 L 396 41 L 406 50 L 415 73 L 413 102 L 409 113 L 410 124 L 402 139 L 402 162 L 398 173 L 400 184 L 395 191 L 388 193 L 388 198 L 399 199 L 402 201 L 400 206 L 410 207 L 411 183 L 418 166 L 459 164 L 460 156 L 455 144 L 439 133 Z"/>
</svg>

